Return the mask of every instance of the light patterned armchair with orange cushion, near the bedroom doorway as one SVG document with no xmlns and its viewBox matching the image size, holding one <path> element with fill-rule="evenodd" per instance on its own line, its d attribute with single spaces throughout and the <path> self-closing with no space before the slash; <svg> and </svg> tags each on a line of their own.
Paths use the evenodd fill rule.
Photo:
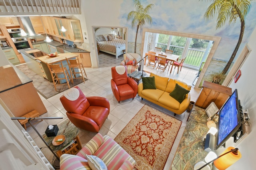
<svg viewBox="0 0 256 170">
<path fill-rule="evenodd" d="M 126 66 L 127 74 L 131 74 L 134 71 L 138 71 L 140 63 L 137 62 L 140 61 L 140 58 L 140 55 L 137 53 L 126 53 L 124 54 L 124 60 L 120 63 L 120 65 Z"/>
</svg>

